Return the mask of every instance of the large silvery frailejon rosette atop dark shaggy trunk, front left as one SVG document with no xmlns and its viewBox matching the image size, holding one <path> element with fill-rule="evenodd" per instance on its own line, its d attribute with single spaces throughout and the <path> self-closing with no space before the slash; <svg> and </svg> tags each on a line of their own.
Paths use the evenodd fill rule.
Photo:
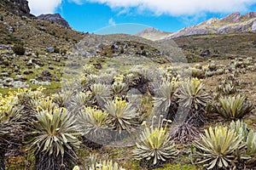
<svg viewBox="0 0 256 170">
<path fill-rule="evenodd" d="M 30 150 L 35 155 L 46 152 L 50 155 L 64 156 L 65 150 L 79 148 L 77 139 L 78 127 L 74 116 L 64 108 L 52 111 L 38 111 L 37 121 L 34 122 L 34 132 L 37 136 L 32 139 Z"/>
</svg>

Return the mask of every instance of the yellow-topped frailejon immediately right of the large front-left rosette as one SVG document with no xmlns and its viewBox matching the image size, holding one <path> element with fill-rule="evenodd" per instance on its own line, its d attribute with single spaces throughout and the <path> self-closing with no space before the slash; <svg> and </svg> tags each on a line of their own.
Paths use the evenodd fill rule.
<svg viewBox="0 0 256 170">
<path fill-rule="evenodd" d="M 111 139 L 108 133 L 108 113 L 105 111 L 86 107 L 79 113 L 78 124 L 84 143 L 90 148 L 97 149 Z"/>
</svg>

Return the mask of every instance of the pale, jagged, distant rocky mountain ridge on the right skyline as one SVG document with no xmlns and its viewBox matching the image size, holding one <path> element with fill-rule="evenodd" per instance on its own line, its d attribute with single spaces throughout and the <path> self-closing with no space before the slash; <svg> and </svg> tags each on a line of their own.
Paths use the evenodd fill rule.
<svg viewBox="0 0 256 170">
<path fill-rule="evenodd" d="M 154 30 L 151 28 L 151 30 Z M 222 19 L 212 18 L 201 22 L 196 26 L 185 27 L 177 32 L 166 32 L 165 35 L 155 38 L 154 34 L 159 35 L 163 31 L 151 31 L 151 40 L 165 40 L 174 37 L 192 36 L 192 35 L 205 35 L 205 34 L 226 34 L 226 33 L 240 33 L 240 32 L 253 32 L 256 31 L 256 12 L 249 12 L 241 15 L 239 12 L 229 14 Z M 147 29 L 145 31 L 147 32 Z M 137 33 L 137 36 L 150 39 L 147 34 Z"/>
</svg>

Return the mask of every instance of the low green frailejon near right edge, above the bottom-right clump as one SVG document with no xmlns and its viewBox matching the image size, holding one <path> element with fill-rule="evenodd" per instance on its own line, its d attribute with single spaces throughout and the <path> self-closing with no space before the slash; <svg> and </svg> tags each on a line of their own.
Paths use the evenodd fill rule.
<svg viewBox="0 0 256 170">
<path fill-rule="evenodd" d="M 236 120 L 253 111 L 253 104 L 240 94 L 233 97 L 221 97 L 216 110 L 226 119 Z"/>
</svg>

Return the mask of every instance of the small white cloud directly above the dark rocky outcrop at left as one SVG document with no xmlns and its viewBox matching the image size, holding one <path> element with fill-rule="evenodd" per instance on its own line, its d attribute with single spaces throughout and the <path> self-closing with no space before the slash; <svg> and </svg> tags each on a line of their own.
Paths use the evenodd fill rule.
<svg viewBox="0 0 256 170">
<path fill-rule="evenodd" d="M 38 14 L 52 14 L 55 9 L 61 5 L 61 0 L 27 0 L 31 13 Z"/>
</svg>

